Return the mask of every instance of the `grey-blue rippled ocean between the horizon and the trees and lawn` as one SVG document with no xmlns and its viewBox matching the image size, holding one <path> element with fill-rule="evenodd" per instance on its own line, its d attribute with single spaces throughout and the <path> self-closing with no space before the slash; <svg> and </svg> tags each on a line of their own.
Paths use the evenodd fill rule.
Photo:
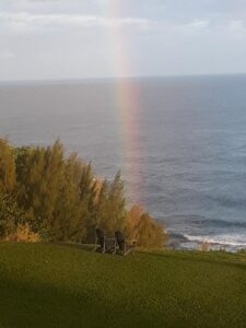
<svg viewBox="0 0 246 328">
<path fill-rule="evenodd" d="M 0 136 L 121 169 L 176 248 L 246 248 L 246 75 L 2 82 Z"/>
</svg>

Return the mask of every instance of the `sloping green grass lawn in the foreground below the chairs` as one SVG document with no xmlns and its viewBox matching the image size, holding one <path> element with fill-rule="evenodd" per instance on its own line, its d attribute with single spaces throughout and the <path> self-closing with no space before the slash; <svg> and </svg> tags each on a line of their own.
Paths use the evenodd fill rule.
<svg viewBox="0 0 246 328">
<path fill-rule="evenodd" d="M 0 327 L 246 327 L 246 255 L 1 243 Z"/>
</svg>

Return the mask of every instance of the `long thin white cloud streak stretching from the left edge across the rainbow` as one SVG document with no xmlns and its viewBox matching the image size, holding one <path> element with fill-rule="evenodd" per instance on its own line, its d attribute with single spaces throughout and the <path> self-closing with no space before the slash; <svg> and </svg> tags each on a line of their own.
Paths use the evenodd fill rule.
<svg viewBox="0 0 246 328">
<path fill-rule="evenodd" d="M 28 12 L 0 12 L 0 23 L 15 30 L 51 27 L 121 27 L 148 28 L 151 21 L 138 17 L 104 17 L 83 14 L 34 14 Z"/>
</svg>

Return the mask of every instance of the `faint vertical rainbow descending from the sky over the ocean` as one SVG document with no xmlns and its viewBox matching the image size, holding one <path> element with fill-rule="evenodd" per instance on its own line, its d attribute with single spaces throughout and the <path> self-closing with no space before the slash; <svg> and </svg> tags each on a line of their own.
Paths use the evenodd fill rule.
<svg viewBox="0 0 246 328">
<path fill-rule="evenodd" d="M 121 1 L 109 0 L 107 14 L 112 19 L 119 17 Z M 115 102 L 118 108 L 119 138 L 122 149 L 122 176 L 127 181 L 127 195 L 129 201 L 143 201 L 143 187 L 140 161 L 142 163 L 140 133 L 140 93 L 137 81 L 127 79 L 132 74 L 132 63 L 129 56 L 129 38 L 120 25 L 117 28 L 108 28 L 112 51 L 112 62 L 117 77 L 124 77 L 116 82 Z"/>
</svg>

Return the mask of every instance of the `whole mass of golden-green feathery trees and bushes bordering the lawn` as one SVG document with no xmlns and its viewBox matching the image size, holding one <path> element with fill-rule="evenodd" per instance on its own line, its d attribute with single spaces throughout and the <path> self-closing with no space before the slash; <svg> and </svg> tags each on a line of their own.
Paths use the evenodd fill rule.
<svg viewBox="0 0 246 328">
<path fill-rule="evenodd" d="M 139 246 L 162 247 L 163 227 L 140 207 L 128 210 L 120 174 L 95 176 L 62 144 L 14 148 L 0 139 L 0 238 L 93 243 L 95 227 L 116 230 Z"/>
</svg>

